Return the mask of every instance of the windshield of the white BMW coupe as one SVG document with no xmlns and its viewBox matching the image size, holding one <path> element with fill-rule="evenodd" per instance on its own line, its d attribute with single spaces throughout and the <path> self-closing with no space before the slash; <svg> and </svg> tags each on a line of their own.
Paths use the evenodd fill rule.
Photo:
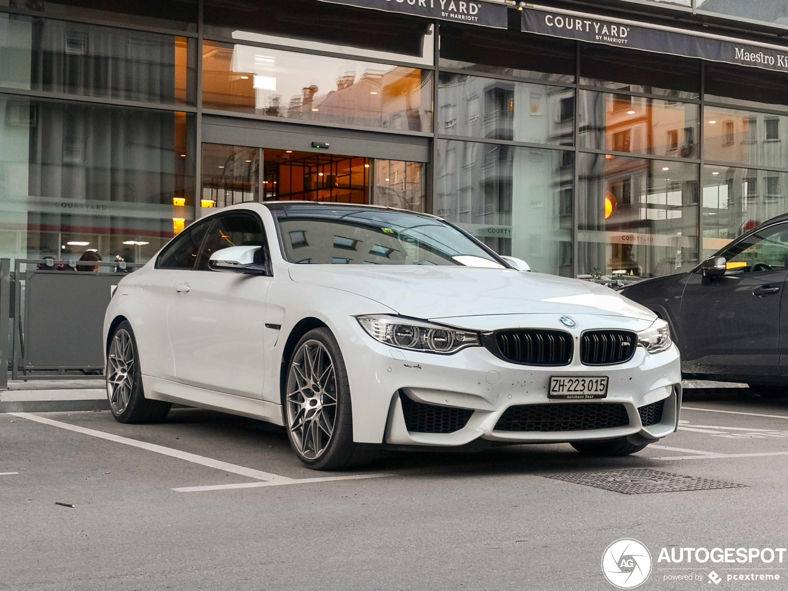
<svg viewBox="0 0 788 591">
<path fill-rule="evenodd" d="M 289 262 L 504 268 L 495 255 L 434 217 L 306 203 L 268 207 Z"/>
</svg>

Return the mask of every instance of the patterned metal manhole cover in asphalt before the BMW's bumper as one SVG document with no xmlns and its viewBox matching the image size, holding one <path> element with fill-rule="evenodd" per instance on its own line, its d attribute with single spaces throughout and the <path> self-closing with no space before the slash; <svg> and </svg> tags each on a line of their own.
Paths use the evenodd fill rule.
<svg viewBox="0 0 788 591">
<path fill-rule="evenodd" d="M 571 474 L 539 474 L 578 485 L 593 486 L 595 489 L 639 495 L 644 492 L 678 492 L 681 490 L 737 489 L 734 482 L 723 482 L 711 478 L 697 478 L 660 472 L 650 468 L 616 470 L 615 472 L 574 472 Z"/>
</svg>

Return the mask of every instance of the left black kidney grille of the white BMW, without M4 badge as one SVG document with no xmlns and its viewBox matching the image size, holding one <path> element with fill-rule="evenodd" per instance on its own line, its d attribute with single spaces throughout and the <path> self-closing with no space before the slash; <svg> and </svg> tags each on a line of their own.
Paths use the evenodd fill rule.
<svg viewBox="0 0 788 591">
<path fill-rule="evenodd" d="M 496 333 L 496 344 L 500 355 L 514 363 L 565 366 L 572 360 L 572 336 L 563 330 L 502 330 Z"/>
</svg>

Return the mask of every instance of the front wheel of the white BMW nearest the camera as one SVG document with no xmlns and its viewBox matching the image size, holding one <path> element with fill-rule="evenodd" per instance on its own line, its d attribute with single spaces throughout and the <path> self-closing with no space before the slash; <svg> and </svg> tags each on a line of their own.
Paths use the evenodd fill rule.
<svg viewBox="0 0 788 591">
<path fill-rule="evenodd" d="M 286 366 L 282 393 L 284 426 L 293 452 L 312 470 L 366 466 L 374 451 L 353 441 L 348 371 L 327 328 L 301 337 Z"/>
</svg>

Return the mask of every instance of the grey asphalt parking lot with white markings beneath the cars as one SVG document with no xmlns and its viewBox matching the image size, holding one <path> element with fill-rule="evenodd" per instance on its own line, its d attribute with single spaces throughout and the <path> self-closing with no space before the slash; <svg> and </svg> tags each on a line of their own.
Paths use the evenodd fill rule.
<svg viewBox="0 0 788 591">
<path fill-rule="evenodd" d="M 649 549 L 639 589 L 785 588 L 786 553 L 658 559 L 788 545 L 788 401 L 688 389 L 684 405 L 678 433 L 623 458 L 386 452 L 349 473 L 308 470 L 281 427 L 218 412 L 0 414 L 0 589 L 615 589 L 601 559 L 619 538 Z M 730 488 L 596 488 L 672 478 L 642 470 Z"/>
</svg>

